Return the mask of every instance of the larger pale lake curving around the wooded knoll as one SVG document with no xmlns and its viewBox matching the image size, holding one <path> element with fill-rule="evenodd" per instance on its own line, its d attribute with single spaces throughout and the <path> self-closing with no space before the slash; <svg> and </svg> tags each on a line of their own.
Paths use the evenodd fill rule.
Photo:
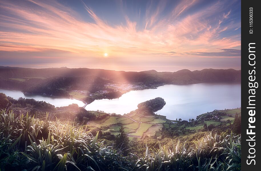
<svg viewBox="0 0 261 171">
<path fill-rule="evenodd" d="M 166 101 L 157 114 L 172 120 L 196 119 L 196 116 L 214 109 L 241 107 L 241 84 L 164 85 L 157 89 L 129 91 L 117 99 L 95 100 L 85 109 L 123 115 L 137 109 L 138 103 L 156 97 Z"/>
</svg>

